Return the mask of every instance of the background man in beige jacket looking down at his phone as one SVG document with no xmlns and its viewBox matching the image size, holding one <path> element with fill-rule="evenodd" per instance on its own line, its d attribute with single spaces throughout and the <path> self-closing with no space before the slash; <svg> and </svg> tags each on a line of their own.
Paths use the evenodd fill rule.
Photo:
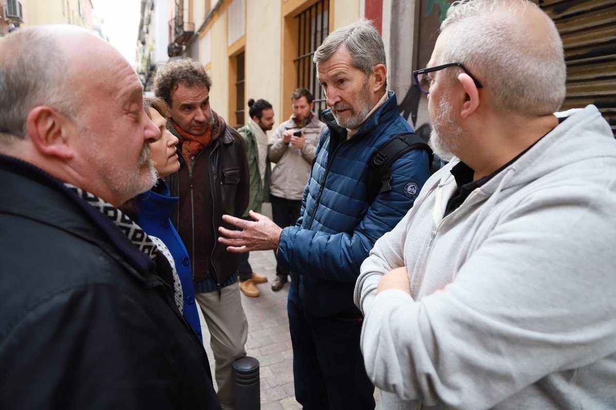
<svg viewBox="0 0 616 410">
<path fill-rule="evenodd" d="M 302 194 L 310 175 L 318 137 L 326 128 L 312 110 L 314 97 L 305 88 L 291 94 L 293 115 L 280 124 L 269 140 L 267 158 L 275 163 L 270 180 L 272 219 L 279 227 L 294 225 L 299 218 Z M 289 271 L 276 266 L 272 291 L 280 291 L 288 282 Z"/>
</svg>

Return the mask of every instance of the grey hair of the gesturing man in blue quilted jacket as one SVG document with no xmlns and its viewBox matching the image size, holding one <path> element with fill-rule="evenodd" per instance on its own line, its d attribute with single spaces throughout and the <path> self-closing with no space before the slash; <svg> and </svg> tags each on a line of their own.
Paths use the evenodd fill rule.
<svg viewBox="0 0 616 410">
<path fill-rule="evenodd" d="M 352 65 L 366 75 L 373 73 L 377 64 L 387 66 L 381 34 L 366 18 L 332 31 L 323 40 L 312 58 L 317 69 L 319 63 L 328 60 L 340 47 L 351 54 Z"/>
</svg>

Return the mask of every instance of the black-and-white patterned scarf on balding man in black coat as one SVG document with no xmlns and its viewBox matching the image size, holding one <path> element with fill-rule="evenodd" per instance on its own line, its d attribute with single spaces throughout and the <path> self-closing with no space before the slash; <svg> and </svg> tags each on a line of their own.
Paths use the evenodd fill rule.
<svg viewBox="0 0 616 410">
<path fill-rule="evenodd" d="M 158 252 L 161 252 L 164 257 L 167 258 L 169 265 L 171 265 L 171 270 L 173 271 L 174 299 L 180 313 L 184 312 L 184 303 L 182 302 L 184 295 L 182 294 L 180 278 L 177 276 L 176 263 L 174 263 L 171 252 L 169 252 L 169 249 L 165 246 L 163 241 L 156 238 L 156 236 L 148 236 L 147 233 L 145 233 L 139 225 L 134 223 L 132 219 L 124 214 L 124 212 L 120 211 L 120 209 L 110 203 L 103 201 L 98 196 L 92 195 L 88 191 L 84 191 L 81 188 L 75 187 L 75 185 L 71 185 L 70 183 L 64 183 L 64 185 L 75 192 L 79 198 L 98 209 L 101 214 L 107 215 L 107 217 L 115 223 L 116 227 L 120 228 L 124 235 L 126 235 L 126 238 L 128 238 L 129 241 L 139 248 L 139 251 L 148 255 L 153 262 L 156 262 Z"/>
</svg>

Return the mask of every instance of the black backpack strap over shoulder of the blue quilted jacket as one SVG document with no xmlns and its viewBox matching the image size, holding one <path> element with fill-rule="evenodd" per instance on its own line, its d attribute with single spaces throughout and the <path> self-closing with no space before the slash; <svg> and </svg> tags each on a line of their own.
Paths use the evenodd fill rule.
<svg viewBox="0 0 616 410">
<path fill-rule="evenodd" d="M 376 151 L 375 155 L 373 155 L 370 160 L 370 166 L 376 169 L 381 179 L 381 189 L 378 193 L 391 191 L 392 164 L 408 151 L 417 149 L 426 150 L 428 152 L 429 164 L 432 164 L 432 159 L 434 159 L 432 149 L 428 143 L 414 132 L 395 135 L 395 137 L 384 143 L 383 146 Z"/>
</svg>

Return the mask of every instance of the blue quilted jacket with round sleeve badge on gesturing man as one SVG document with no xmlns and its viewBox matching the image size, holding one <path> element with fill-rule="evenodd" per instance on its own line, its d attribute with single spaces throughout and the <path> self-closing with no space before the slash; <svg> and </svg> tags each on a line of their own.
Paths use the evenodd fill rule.
<svg viewBox="0 0 616 410">
<path fill-rule="evenodd" d="M 391 91 L 349 140 L 331 110 L 323 111 L 323 122 L 328 129 L 318 143 L 301 217 L 283 230 L 277 257 L 293 272 L 306 311 L 318 316 L 359 312 L 353 291 L 363 260 L 413 206 L 430 175 L 428 153 L 409 151 L 391 166 L 392 190 L 368 199 L 368 180 L 374 181 L 368 161 L 387 140 L 412 131 Z"/>
</svg>

